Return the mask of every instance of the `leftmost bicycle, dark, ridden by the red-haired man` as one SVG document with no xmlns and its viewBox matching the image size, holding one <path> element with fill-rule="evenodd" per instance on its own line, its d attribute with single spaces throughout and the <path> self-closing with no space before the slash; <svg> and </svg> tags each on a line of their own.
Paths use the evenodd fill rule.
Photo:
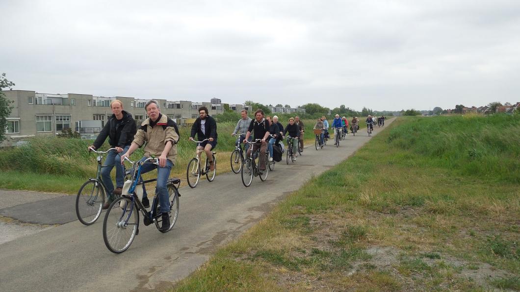
<svg viewBox="0 0 520 292">
<path fill-rule="evenodd" d="M 91 225 L 101 215 L 103 204 L 105 204 L 105 196 L 107 194 L 107 187 L 101 179 L 101 168 L 108 167 L 111 165 L 102 165 L 103 154 L 107 154 L 110 151 L 115 151 L 115 148 L 110 148 L 107 151 L 96 151 L 93 148 L 88 148 L 89 151 L 93 151 L 99 154 L 96 158 L 98 163 L 96 177 L 89 178 L 76 196 L 76 216 L 77 219 L 84 225 Z M 125 169 L 125 177 L 127 176 L 127 170 Z"/>
</svg>

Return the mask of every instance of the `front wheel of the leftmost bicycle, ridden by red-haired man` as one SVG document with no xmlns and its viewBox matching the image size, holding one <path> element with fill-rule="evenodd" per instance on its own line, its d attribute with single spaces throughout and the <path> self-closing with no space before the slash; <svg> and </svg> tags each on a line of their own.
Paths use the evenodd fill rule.
<svg viewBox="0 0 520 292">
<path fill-rule="evenodd" d="M 77 192 L 76 216 L 81 223 L 90 225 L 101 215 L 105 203 L 105 191 L 96 181 L 86 181 Z"/>
</svg>

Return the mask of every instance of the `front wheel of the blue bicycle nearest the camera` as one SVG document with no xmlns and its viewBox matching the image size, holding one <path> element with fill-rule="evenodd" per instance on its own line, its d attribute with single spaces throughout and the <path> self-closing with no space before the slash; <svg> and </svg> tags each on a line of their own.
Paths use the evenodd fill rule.
<svg viewBox="0 0 520 292">
<path fill-rule="evenodd" d="M 121 254 L 134 241 L 139 229 L 137 205 L 127 196 L 117 198 L 103 221 L 103 241 L 114 254 Z"/>
</svg>

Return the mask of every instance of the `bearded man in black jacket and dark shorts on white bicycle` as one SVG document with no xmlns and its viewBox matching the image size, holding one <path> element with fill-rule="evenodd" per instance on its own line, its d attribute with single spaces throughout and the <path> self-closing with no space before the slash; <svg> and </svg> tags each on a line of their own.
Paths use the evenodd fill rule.
<svg viewBox="0 0 520 292">
<path fill-rule="evenodd" d="M 191 141 L 194 141 L 193 137 L 195 137 L 195 134 L 197 134 L 197 139 L 199 139 L 199 141 L 209 139 L 209 141 L 200 143 L 200 145 L 197 146 L 197 149 L 206 152 L 207 160 L 210 162 L 210 170 L 214 170 L 215 164 L 213 162 L 211 150 L 217 145 L 217 122 L 215 122 L 215 119 L 212 116 L 207 114 L 206 107 L 199 108 L 199 117 L 191 126 L 191 136 L 189 138 Z M 200 160 L 202 151 L 199 151 L 198 153 Z M 204 171 L 207 171 L 207 169 Z"/>
</svg>

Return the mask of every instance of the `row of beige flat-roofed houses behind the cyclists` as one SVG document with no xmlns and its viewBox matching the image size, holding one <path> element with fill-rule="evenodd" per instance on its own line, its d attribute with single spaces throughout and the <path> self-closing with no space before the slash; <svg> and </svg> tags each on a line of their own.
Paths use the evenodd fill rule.
<svg viewBox="0 0 520 292">
<path fill-rule="evenodd" d="M 110 102 L 119 99 L 125 111 L 132 113 L 137 124 L 147 118 L 145 104 L 149 99 L 133 97 L 102 97 L 86 94 L 43 94 L 30 90 L 2 91 L 11 100 L 13 109 L 7 118 L 6 138 L 0 146 L 16 144 L 28 137 L 57 135 L 62 130 L 79 132 L 84 139 L 94 139 L 112 115 Z M 178 125 L 187 125 L 199 116 L 198 109 L 205 106 L 210 115 L 227 109 L 240 113 L 248 105 L 226 104 L 218 98 L 210 102 L 155 99 L 161 113 Z M 304 109 L 279 109 L 273 112 L 297 112 Z"/>
</svg>

